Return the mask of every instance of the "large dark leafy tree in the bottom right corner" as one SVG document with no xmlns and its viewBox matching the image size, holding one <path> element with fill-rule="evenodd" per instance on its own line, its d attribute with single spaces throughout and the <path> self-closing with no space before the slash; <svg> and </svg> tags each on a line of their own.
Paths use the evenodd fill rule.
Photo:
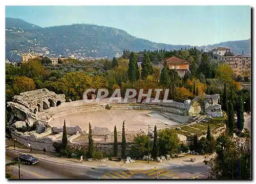
<svg viewBox="0 0 256 184">
<path fill-rule="evenodd" d="M 210 167 L 209 179 L 250 179 L 251 151 L 249 139 L 241 146 L 227 135 L 216 141 L 216 156 L 206 157 L 204 163 Z"/>
</svg>

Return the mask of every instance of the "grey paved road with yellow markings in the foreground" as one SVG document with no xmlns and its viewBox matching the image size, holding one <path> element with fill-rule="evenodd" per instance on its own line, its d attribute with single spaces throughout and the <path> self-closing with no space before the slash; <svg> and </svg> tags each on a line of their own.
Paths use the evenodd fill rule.
<svg viewBox="0 0 256 184">
<path fill-rule="evenodd" d="M 15 160 L 17 153 L 6 150 L 7 161 Z M 57 164 L 39 160 L 36 165 L 21 165 L 22 179 L 159 179 L 207 178 L 207 167 L 203 163 L 195 165 L 172 166 L 148 170 L 127 170 L 112 168 L 86 168 Z M 11 166 L 11 174 L 18 178 L 18 166 Z"/>
</svg>

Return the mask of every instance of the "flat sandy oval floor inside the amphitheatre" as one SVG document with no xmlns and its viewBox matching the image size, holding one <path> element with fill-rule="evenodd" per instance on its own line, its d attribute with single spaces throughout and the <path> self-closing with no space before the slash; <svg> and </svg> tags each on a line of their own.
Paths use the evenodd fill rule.
<svg viewBox="0 0 256 184">
<path fill-rule="evenodd" d="M 66 120 L 66 126 L 79 125 L 84 131 L 89 129 L 89 122 L 91 122 L 92 129 L 94 127 L 106 127 L 114 131 L 114 126 L 116 125 L 118 132 L 122 131 L 122 122 L 124 120 L 126 131 L 142 130 L 147 132 L 148 123 L 153 129 L 155 125 L 157 125 L 158 129 L 161 129 L 179 124 L 152 110 L 102 110 L 63 116 L 52 120 L 49 125 L 61 127 L 64 119 Z"/>
</svg>

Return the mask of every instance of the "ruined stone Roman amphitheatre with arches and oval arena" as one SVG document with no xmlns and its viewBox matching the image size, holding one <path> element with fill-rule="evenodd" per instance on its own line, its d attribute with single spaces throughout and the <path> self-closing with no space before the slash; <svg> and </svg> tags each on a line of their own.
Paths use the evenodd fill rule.
<svg viewBox="0 0 256 184">
<path fill-rule="evenodd" d="M 88 144 L 90 122 L 96 146 L 109 153 L 113 147 L 115 125 L 118 141 L 121 142 L 123 121 L 127 142 L 132 143 L 137 133 L 147 133 L 148 124 L 150 133 L 153 133 L 155 125 L 158 130 L 176 128 L 178 134 L 181 132 L 180 139 L 186 141 L 183 126 L 223 116 L 218 94 L 196 97 L 183 103 L 153 103 L 152 99 L 149 103 L 136 103 L 136 99 L 129 99 L 128 103 L 108 103 L 108 100 L 101 99 L 99 103 L 71 101 L 65 95 L 55 94 L 45 88 L 20 93 L 7 103 L 12 110 L 8 123 L 12 137 L 22 144 L 30 143 L 34 149 L 42 150 L 45 147 L 48 151 L 54 151 L 53 143 L 61 142 L 65 120 L 69 144 L 81 147 Z M 200 120 L 199 114 L 202 114 Z M 205 129 L 204 125 L 201 126 Z M 199 128 L 195 126 L 194 129 Z"/>
</svg>

